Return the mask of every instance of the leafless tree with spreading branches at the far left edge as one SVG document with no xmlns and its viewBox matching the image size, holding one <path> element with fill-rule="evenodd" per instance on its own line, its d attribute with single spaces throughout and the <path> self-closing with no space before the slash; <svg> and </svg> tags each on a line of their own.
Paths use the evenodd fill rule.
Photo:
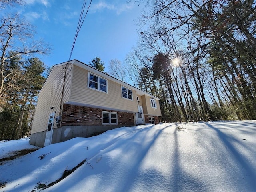
<svg viewBox="0 0 256 192">
<path fill-rule="evenodd" d="M 0 100 L 6 90 L 12 86 L 7 84 L 7 78 L 15 78 L 16 70 L 6 70 L 8 60 L 18 56 L 32 54 L 48 54 L 50 48 L 42 40 L 33 40 L 34 29 L 18 14 L 2 18 L 0 21 Z M 12 52 L 12 54 L 9 54 Z"/>
</svg>

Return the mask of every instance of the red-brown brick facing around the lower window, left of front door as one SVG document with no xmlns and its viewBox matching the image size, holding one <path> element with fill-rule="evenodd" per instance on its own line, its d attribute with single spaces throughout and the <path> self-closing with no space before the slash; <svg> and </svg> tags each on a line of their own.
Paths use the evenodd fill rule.
<svg viewBox="0 0 256 192">
<path fill-rule="evenodd" d="M 102 125 L 102 111 L 116 112 L 118 125 L 134 125 L 133 113 L 64 104 L 62 126 Z"/>
</svg>

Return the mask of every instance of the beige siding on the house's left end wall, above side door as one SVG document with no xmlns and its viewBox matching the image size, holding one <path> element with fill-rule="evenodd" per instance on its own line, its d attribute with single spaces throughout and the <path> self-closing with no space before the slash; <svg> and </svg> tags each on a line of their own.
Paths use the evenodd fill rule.
<svg viewBox="0 0 256 192">
<path fill-rule="evenodd" d="M 70 67 L 72 67 L 72 65 L 70 65 Z M 70 67 L 67 69 L 66 73 L 66 84 L 64 89 L 63 102 L 66 102 L 69 99 L 69 89 L 72 74 Z M 38 95 L 36 112 L 32 124 L 32 134 L 46 130 L 48 126 L 48 118 L 52 112 L 55 112 L 55 118 L 59 115 L 64 72 L 65 69 L 63 68 L 63 65 L 54 66 L 43 88 L 41 89 Z M 53 110 L 50 109 L 52 106 L 54 106 Z M 54 121 L 53 128 L 56 128 L 56 121 Z"/>
</svg>

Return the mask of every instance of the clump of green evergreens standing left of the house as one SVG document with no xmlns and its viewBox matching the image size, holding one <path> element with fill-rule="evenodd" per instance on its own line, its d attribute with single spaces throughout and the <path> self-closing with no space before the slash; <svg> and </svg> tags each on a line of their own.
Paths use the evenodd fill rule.
<svg viewBox="0 0 256 192">
<path fill-rule="evenodd" d="M 15 78 L 6 78 L 8 90 L 1 105 L 0 140 L 18 139 L 29 134 L 36 96 L 46 79 L 44 63 L 38 58 L 24 61 L 14 57 L 6 60 L 6 66 L 7 71 L 15 69 L 17 73 Z"/>
</svg>

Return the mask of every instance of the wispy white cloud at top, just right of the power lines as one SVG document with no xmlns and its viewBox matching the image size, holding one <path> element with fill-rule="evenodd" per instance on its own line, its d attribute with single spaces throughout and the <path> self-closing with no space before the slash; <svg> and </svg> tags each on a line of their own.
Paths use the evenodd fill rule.
<svg viewBox="0 0 256 192">
<path fill-rule="evenodd" d="M 120 14 L 131 8 L 132 6 L 128 6 L 128 4 L 113 4 L 113 3 L 111 4 L 104 0 L 100 0 L 97 4 L 92 4 L 92 6 L 90 7 L 90 11 L 95 13 L 97 11 L 107 9 L 107 10 L 114 10 L 116 11 L 116 14 Z"/>
</svg>

